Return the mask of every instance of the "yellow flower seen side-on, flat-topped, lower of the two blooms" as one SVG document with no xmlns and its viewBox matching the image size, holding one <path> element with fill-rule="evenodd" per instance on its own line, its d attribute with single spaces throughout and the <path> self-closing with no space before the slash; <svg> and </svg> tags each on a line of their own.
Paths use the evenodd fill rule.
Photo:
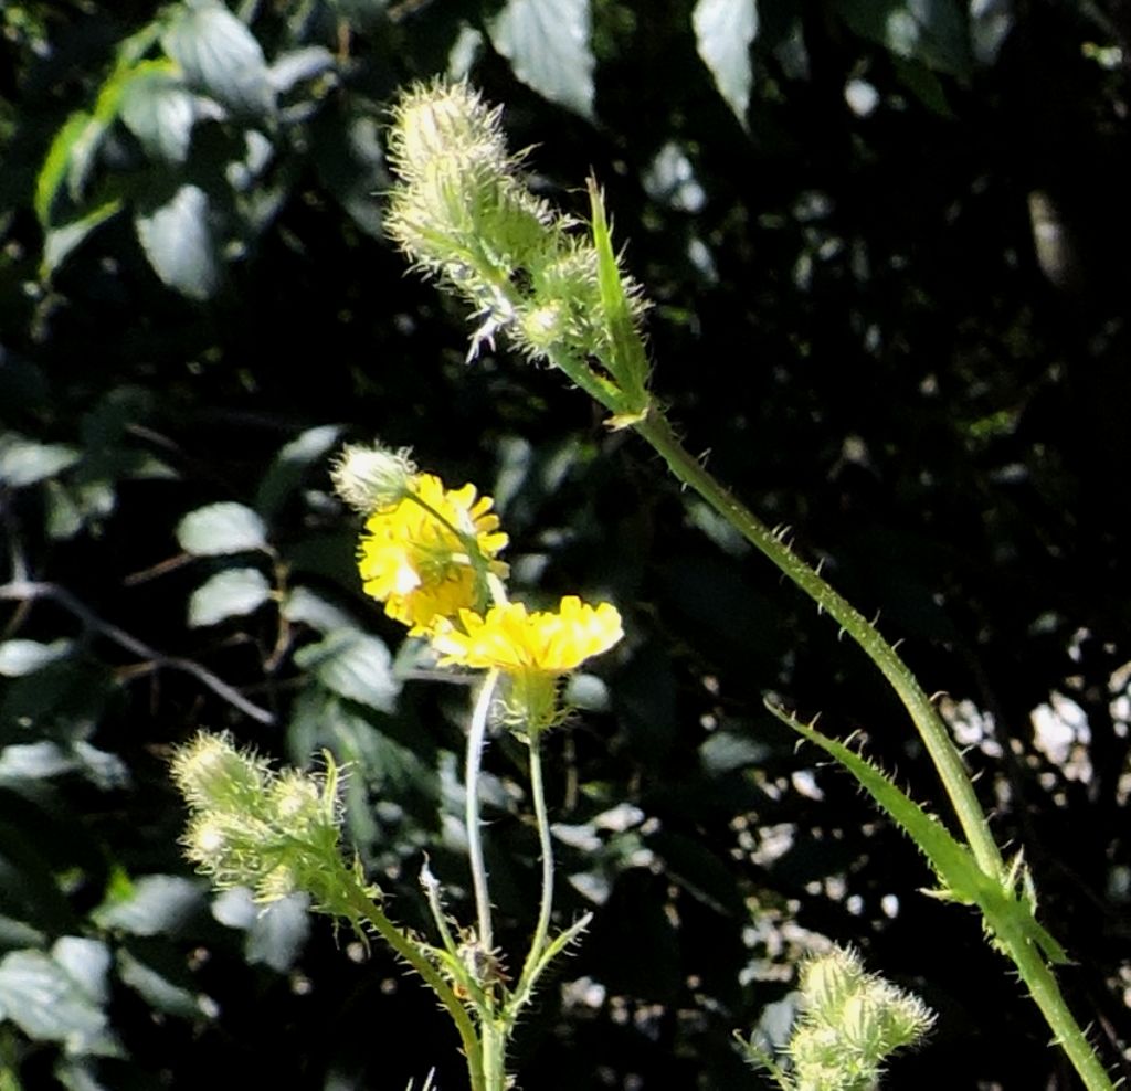
<svg viewBox="0 0 1131 1091">
<path fill-rule="evenodd" d="M 492 606 L 485 617 L 463 609 L 459 622 L 463 632 L 448 622 L 432 637 L 440 663 L 510 675 L 566 674 L 624 635 L 615 606 L 589 606 L 575 595 L 566 596 L 555 613 L 528 614 L 521 603 L 508 603 Z"/>
</svg>

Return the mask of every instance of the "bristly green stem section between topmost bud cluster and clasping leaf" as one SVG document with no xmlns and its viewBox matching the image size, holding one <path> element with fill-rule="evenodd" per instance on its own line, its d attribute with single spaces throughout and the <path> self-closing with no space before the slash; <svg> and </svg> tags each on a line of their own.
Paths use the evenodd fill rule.
<svg viewBox="0 0 1131 1091">
<path fill-rule="evenodd" d="M 1004 874 L 1001 852 L 990 835 L 985 813 L 978 804 L 974 786 L 962 765 L 950 734 L 935 712 L 931 699 L 896 650 L 863 614 L 835 591 L 821 577 L 793 553 L 745 505 L 734 499 L 706 469 L 693 459 L 672 432 L 664 415 L 655 407 L 633 425 L 637 432 L 667 462 L 683 484 L 693 488 L 711 508 L 753 546 L 774 562 L 818 607 L 839 622 L 861 650 L 880 668 L 910 713 L 934 762 L 966 840 L 978 866 L 987 875 Z"/>
</svg>

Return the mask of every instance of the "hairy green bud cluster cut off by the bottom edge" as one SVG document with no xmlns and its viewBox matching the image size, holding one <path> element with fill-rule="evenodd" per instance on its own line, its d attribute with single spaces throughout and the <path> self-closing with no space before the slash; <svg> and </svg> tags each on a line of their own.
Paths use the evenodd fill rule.
<svg viewBox="0 0 1131 1091">
<path fill-rule="evenodd" d="M 783 1072 L 757 1047 L 785 1091 L 873 1091 L 884 1060 L 930 1030 L 934 1014 L 918 997 L 867 973 L 854 951 L 834 947 L 801 970 L 801 1013 Z"/>
</svg>

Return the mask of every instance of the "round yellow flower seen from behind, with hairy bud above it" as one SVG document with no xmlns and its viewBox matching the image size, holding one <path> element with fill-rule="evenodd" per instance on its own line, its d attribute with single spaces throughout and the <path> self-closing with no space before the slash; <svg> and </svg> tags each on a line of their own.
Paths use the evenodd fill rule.
<svg viewBox="0 0 1131 1091">
<path fill-rule="evenodd" d="M 365 521 L 357 568 L 368 595 L 413 634 L 428 632 L 437 617 L 455 617 L 482 606 L 486 575 L 503 578 L 495 555 L 507 545 L 490 496 L 474 485 L 448 490 L 432 474 L 411 484 L 411 495 L 374 511 Z M 480 557 L 473 560 L 474 543 Z"/>
</svg>

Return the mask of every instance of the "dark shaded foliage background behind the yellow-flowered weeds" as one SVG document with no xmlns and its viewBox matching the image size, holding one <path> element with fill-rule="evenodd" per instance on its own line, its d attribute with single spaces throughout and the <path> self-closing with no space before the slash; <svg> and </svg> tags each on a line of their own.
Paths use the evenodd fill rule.
<svg viewBox="0 0 1131 1091">
<path fill-rule="evenodd" d="M 458 894 L 466 694 L 414 684 L 326 473 L 378 434 L 495 496 L 525 599 L 636 604 L 595 667 L 615 684 L 576 679 L 585 716 L 547 739 L 561 909 L 601 911 L 519 1034 L 525 1083 L 743 1085 L 732 1031 L 766 1013 L 775 1040 L 829 936 L 939 1013 L 889 1085 L 1072 1086 L 976 921 L 920 895 L 914 849 L 762 711 L 770 690 L 832 734 L 867 725 L 934 804 L 856 653 L 553 375 L 489 345 L 466 366 L 458 308 L 404 276 L 382 111 L 464 71 L 513 147 L 542 141 L 539 192 L 585 215 L 586 168 L 606 187 L 689 442 L 946 686 L 1117 1063 L 1128 20 L 1117 0 L 5 5 L 8 1070 L 361 1088 L 434 1060 L 460 1085 L 454 1033 L 383 953 L 330 956 L 294 902 L 206 895 L 164 765 L 198 726 L 299 762 L 328 746 L 398 919 L 424 923 L 425 843 Z M 537 846 L 518 755 L 487 763 L 506 929 Z"/>
</svg>

